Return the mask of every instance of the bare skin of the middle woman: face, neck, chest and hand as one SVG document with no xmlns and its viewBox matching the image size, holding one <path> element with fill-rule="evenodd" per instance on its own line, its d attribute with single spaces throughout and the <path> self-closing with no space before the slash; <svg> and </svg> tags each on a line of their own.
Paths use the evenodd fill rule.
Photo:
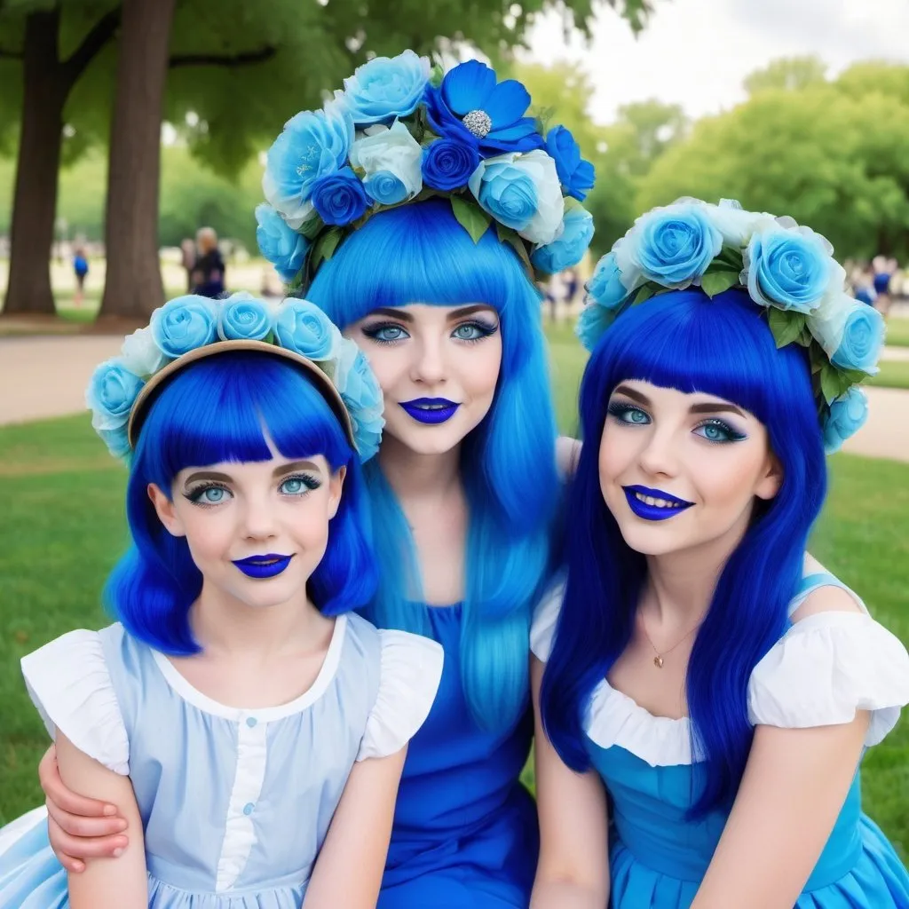
<svg viewBox="0 0 909 909">
<path fill-rule="evenodd" d="M 460 450 L 493 402 L 502 362 L 498 315 L 486 305 L 414 304 L 366 315 L 344 334 L 364 351 L 385 396 L 378 457 L 411 527 L 422 596 L 436 606 L 460 602 L 468 525 Z M 445 398 L 458 408 L 444 423 L 421 423 L 400 406 L 421 398 Z M 113 800 L 105 806 L 70 792 L 52 751 L 39 774 L 51 843 L 67 870 L 125 848 L 126 826 Z M 349 856 L 346 863 L 355 866 Z"/>
</svg>

